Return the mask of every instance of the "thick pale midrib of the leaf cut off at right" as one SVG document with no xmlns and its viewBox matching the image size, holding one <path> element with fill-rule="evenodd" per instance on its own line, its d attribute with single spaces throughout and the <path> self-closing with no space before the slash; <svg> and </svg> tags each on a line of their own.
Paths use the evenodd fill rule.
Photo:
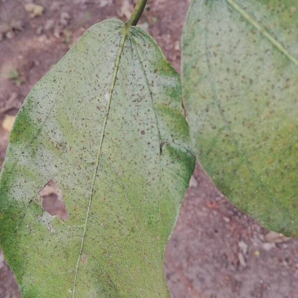
<svg viewBox="0 0 298 298">
<path fill-rule="evenodd" d="M 225 0 L 232 8 L 239 12 L 244 19 L 254 26 L 264 37 L 267 38 L 281 53 L 283 53 L 291 62 L 298 67 L 298 60 L 293 57 L 290 52 L 283 47 L 269 32 L 267 32 L 257 21 L 255 21 L 242 7 L 240 7 L 234 0 Z"/>
</svg>

